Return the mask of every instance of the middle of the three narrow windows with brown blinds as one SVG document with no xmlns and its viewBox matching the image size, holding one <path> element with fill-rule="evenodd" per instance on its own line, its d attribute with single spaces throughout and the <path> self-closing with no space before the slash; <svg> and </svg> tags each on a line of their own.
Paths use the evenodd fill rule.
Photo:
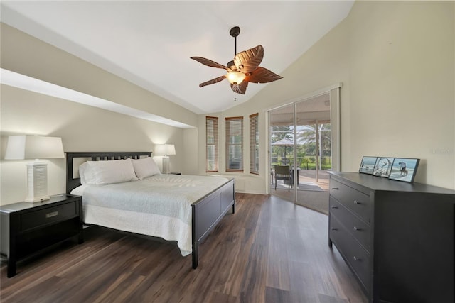
<svg viewBox="0 0 455 303">
<path fill-rule="evenodd" d="M 243 117 L 226 118 L 226 171 L 243 172 Z"/>
</svg>

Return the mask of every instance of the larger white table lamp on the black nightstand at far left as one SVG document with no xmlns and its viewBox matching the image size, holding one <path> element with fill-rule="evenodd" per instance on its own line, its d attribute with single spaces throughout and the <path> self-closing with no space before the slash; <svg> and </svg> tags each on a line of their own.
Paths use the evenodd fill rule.
<svg viewBox="0 0 455 303">
<path fill-rule="evenodd" d="M 35 159 L 27 165 L 26 202 L 41 202 L 48 195 L 48 164 L 39 159 L 65 158 L 62 139 L 44 136 L 9 136 L 5 160 Z"/>
</svg>

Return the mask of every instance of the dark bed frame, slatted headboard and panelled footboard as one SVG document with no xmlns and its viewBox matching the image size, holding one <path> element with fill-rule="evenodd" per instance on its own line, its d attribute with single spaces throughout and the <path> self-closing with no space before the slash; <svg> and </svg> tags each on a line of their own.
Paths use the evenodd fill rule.
<svg viewBox="0 0 455 303">
<path fill-rule="evenodd" d="M 80 177 L 73 176 L 73 172 L 77 170 L 74 167 L 76 158 L 88 158 L 86 160 L 102 161 L 102 160 L 120 160 L 126 158 L 139 159 L 151 157 L 151 152 L 109 152 L 109 153 L 91 153 L 77 152 L 66 153 L 66 192 L 69 194 L 73 189 L 80 186 Z M 82 163 L 82 162 L 81 162 Z M 79 163 L 80 164 L 80 163 Z M 77 165 L 76 165 L 77 166 Z M 223 216 L 228 213 L 232 206 L 232 214 L 235 213 L 235 180 L 230 179 L 225 184 L 217 189 L 214 189 L 209 194 L 198 199 L 191 204 L 193 214 L 191 228 L 191 243 L 192 243 L 192 262 L 193 268 L 198 267 L 198 246 L 208 236 L 210 231 L 215 228 Z"/>
</svg>

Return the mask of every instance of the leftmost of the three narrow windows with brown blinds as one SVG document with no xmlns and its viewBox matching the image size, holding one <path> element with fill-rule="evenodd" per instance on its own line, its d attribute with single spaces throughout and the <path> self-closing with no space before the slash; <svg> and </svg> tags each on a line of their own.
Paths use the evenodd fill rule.
<svg viewBox="0 0 455 303">
<path fill-rule="evenodd" d="M 218 117 L 205 117 L 205 172 L 218 172 Z"/>
</svg>

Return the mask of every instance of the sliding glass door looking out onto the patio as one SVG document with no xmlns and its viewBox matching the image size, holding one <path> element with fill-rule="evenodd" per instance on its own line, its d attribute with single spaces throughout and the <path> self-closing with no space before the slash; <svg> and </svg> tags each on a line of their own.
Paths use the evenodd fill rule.
<svg viewBox="0 0 455 303">
<path fill-rule="evenodd" d="M 337 87 L 269 111 L 271 194 L 328 213 L 328 171 L 339 167 L 338 101 Z"/>
</svg>

